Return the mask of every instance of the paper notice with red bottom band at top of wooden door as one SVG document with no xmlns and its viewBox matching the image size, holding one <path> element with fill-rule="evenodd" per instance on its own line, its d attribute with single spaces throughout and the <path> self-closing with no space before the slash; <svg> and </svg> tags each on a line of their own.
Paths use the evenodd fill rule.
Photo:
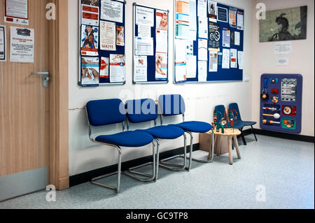
<svg viewBox="0 0 315 223">
<path fill-rule="evenodd" d="M 4 0 L 4 22 L 28 25 L 28 0 Z"/>
</svg>

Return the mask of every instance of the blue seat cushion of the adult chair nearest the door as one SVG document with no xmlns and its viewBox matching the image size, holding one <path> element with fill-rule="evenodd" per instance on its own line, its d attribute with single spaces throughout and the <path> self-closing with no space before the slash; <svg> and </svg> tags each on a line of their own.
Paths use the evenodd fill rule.
<svg viewBox="0 0 315 223">
<path fill-rule="evenodd" d="M 124 131 L 109 136 L 98 136 L 95 141 L 123 147 L 142 147 L 153 142 L 153 136 L 141 131 Z"/>
</svg>

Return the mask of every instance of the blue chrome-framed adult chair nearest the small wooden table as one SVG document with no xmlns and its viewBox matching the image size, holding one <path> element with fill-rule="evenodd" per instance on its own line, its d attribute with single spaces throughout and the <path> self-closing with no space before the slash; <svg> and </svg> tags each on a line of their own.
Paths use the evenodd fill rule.
<svg viewBox="0 0 315 223">
<path fill-rule="evenodd" d="M 189 157 L 189 166 L 186 168 L 188 171 L 191 168 L 192 161 L 198 161 L 202 163 L 209 163 L 213 161 L 214 158 L 214 145 L 212 145 L 212 157 L 211 160 L 200 160 L 200 159 L 193 159 L 193 133 L 207 133 L 212 129 L 211 124 L 206 122 L 185 122 L 185 112 L 186 112 L 186 106 L 185 101 L 183 99 L 183 96 L 179 94 L 170 94 L 170 95 L 161 95 L 159 97 L 159 106 L 161 110 L 161 124 L 163 124 L 163 117 L 169 117 L 169 116 L 176 116 L 176 115 L 182 115 L 183 116 L 183 122 L 180 124 L 171 124 L 169 126 L 172 127 L 179 127 L 183 129 L 187 134 L 190 135 L 190 157 Z M 214 134 L 213 134 L 214 139 Z M 214 143 L 212 143 L 214 144 Z M 182 155 L 178 155 L 175 157 L 169 157 L 168 159 L 164 159 L 161 161 L 161 166 L 166 167 L 167 166 L 176 166 L 175 164 L 168 164 L 166 161 L 169 161 L 171 159 L 175 159 L 177 157 L 183 157 Z M 187 159 L 186 155 L 184 156 L 185 159 Z"/>
</svg>

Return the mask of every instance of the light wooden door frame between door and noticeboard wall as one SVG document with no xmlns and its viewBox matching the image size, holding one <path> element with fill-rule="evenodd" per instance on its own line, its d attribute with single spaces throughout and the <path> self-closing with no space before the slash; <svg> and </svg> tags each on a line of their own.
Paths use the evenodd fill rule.
<svg viewBox="0 0 315 223">
<path fill-rule="evenodd" d="M 49 21 L 49 182 L 62 190 L 69 188 L 68 0 L 50 3 L 55 3 L 56 20 Z"/>
</svg>

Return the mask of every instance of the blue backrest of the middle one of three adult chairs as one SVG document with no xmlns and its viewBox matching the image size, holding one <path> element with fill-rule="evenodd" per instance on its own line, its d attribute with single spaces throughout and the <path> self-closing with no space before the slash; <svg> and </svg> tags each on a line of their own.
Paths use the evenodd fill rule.
<svg viewBox="0 0 315 223">
<path fill-rule="evenodd" d="M 132 123 L 149 122 L 158 118 L 158 106 L 153 99 L 127 101 L 128 120 Z"/>
</svg>

